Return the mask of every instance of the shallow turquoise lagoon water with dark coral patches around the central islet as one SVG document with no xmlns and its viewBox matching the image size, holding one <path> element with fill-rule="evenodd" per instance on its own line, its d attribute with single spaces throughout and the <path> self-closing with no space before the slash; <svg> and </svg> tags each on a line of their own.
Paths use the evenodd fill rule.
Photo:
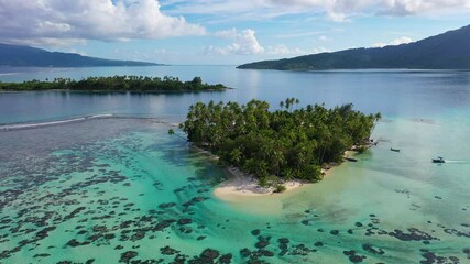
<svg viewBox="0 0 470 264">
<path fill-rule="evenodd" d="M 234 204 L 211 194 L 225 172 L 164 124 L 98 119 L 0 132 L 1 261 L 464 263 L 470 163 L 431 164 L 413 151 L 420 141 L 406 142 L 417 129 L 434 138 L 446 128 L 381 123 L 383 141 L 320 184 Z"/>
</svg>

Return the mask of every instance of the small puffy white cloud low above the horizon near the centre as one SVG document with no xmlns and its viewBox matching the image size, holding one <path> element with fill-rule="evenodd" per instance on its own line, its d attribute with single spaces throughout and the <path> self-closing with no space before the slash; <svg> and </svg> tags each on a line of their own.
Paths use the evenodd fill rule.
<svg viewBox="0 0 470 264">
<path fill-rule="evenodd" d="M 204 51 L 205 54 L 253 55 L 264 52 L 264 47 L 262 47 L 256 40 L 255 32 L 251 29 L 243 30 L 241 32 L 239 32 L 237 29 L 231 29 L 216 32 L 215 35 L 221 38 L 231 40 L 232 43 L 226 47 L 208 46 Z"/>
</svg>

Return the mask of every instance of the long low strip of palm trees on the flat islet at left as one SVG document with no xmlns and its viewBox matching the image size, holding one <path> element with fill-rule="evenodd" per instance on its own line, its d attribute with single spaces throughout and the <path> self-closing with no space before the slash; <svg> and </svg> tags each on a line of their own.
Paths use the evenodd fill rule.
<svg viewBox="0 0 470 264">
<path fill-rule="evenodd" d="M 0 90 L 81 90 L 81 91 L 201 91 L 223 90 L 223 85 L 204 84 L 200 77 L 189 81 L 165 76 L 113 76 L 88 77 L 81 80 L 56 78 L 53 81 L 30 80 L 24 82 L 0 82 Z"/>
</svg>

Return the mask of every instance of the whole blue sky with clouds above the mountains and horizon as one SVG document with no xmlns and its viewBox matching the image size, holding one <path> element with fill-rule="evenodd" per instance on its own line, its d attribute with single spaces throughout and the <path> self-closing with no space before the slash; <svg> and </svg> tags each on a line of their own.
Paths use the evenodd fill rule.
<svg viewBox="0 0 470 264">
<path fill-rule="evenodd" d="M 112 59 L 239 65 L 426 38 L 470 0 L 0 0 L 0 42 Z"/>
</svg>

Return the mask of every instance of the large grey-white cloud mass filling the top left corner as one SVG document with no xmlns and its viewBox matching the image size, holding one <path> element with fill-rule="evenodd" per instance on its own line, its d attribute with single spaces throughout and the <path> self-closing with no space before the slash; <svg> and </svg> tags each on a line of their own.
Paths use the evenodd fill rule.
<svg viewBox="0 0 470 264">
<path fill-rule="evenodd" d="M 201 35 L 205 29 L 161 12 L 157 0 L 0 0 L 0 41 L 64 43 Z"/>
</svg>

